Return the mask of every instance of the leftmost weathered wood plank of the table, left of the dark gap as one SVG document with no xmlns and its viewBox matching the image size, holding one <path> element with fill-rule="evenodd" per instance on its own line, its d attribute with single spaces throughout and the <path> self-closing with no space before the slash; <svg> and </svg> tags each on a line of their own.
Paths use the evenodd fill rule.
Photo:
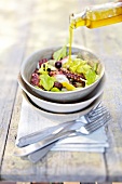
<svg viewBox="0 0 122 184">
<path fill-rule="evenodd" d="M 0 16 L 2 25 L 0 31 L 0 168 L 17 90 L 16 79 L 25 51 L 24 39 L 28 34 L 27 27 L 17 22 L 19 10 L 16 10 L 16 5 L 15 1 L 9 0 L 2 1 L 0 5 L 2 12 Z M 25 32 L 22 31 L 22 26 Z"/>
</svg>

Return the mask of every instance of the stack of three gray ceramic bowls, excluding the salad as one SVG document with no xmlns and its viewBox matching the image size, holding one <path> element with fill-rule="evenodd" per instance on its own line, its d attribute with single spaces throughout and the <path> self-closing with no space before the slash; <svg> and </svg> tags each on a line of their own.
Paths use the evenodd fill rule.
<svg viewBox="0 0 122 184">
<path fill-rule="evenodd" d="M 97 64 L 98 79 L 85 88 L 73 91 L 53 92 L 39 89 L 31 84 L 30 78 L 40 60 L 52 58 L 60 48 L 51 48 L 37 51 L 26 58 L 21 67 L 18 83 L 26 101 L 42 116 L 51 119 L 74 120 L 89 113 L 101 100 L 105 86 L 105 67 L 92 52 L 72 48 L 72 55 L 79 55 L 91 66 Z"/>
</svg>

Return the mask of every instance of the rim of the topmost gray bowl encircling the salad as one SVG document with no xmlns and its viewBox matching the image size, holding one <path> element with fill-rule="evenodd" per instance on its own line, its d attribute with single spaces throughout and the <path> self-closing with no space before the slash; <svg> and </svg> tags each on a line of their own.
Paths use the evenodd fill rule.
<svg viewBox="0 0 122 184">
<path fill-rule="evenodd" d="M 23 78 L 23 80 L 30 87 L 30 88 L 32 88 L 33 90 L 37 90 L 37 91 L 41 91 L 41 92 L 44 92 L 45 94 L 48 93 L 48 94 L 56 94 L 56 95 L 62 95 L 62 94 L 70 94 L 70 93 L 77 93 L 77 92 L 79 92 L 79 91 L 85 91 L 86 89 L 89 89 L 89 88 L 92 88 L 95 83 L 97 83 L 98 81 L 99 81 L 99 79 L 101 79 L 101 77 L 104 76 L 104 74 L 105 74 L 105 66 L 104 66 L 104 64 L 103 64 L 103 62 L 99 62 L 100 60 L 92 52 L 92 51 L 89 51 L 87 49 L 81 49 L 81 48 L 79 48 L 79 47 L 72 47 L 72 49 L 79 49 L 79 50 L 83 50 L 83 51 L 86 51 L 86 52 L 90 52 L 92 55 L 94 55 L 97 60 L 98 60 L 98 62 L 100 63 L 100 65 L 101 65 L 101 67 L 103 67 L 103 69 L 101 69 L 101 74 L 100 74 L 100 77 L 94 82 L 94 83 L 92 83 L 92 84 L 90 84 L 90 86 L 87 86 L 87 87 L 85 87 L 85 88 L 81 88 L 81 89 L 77 89 L 77 90 L 74 90 L 74 91 L 65 91 L 65 92 L 52 92 L 52 91 L 44 91 L 44 90 L 42 90 L 42 89 L 38 89 L 38 88 L 36 88 L 35 86 L 32 86 L 30 82 L 28 82 L 28 80 L 26 80 L 26 77 L 24 76 L 24 68 L 25 68 L 25 65 L 26 65 L 26 63 L 27 63 L 27 61 L 29 61 L 33 55 L 36 55 L 37 53 L 39 53 L 39 52 L 43 52 L 43 51 L 50 51 L 50 50 L 55 50 L 55 49 L 59 49 L 60 47 L 52 47 L 52 48 L 45 48 L 45 49 L 42 49 L 42 50 L 38 50 L 38 51 L 35 51 L 33 53 L 31 53 L 28 57 L 26 57 L 25 60 L 24 60 L 24 62 L 22 63 L 22 66 L 21 66 L 21 75 L 22 75 L 22 78 Z M 67 47 L 68 48 L 68 47 Z"/>
</svg>

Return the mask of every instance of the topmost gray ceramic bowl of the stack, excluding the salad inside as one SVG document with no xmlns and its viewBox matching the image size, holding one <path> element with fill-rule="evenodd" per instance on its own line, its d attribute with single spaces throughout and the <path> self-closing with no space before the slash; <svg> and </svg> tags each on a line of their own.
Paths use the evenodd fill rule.
<svg viewBox="0 0 122 184">
<path fill-rule="evenodd" d="M 80 101 L 81 98 L 89 95 L 96 88 L 96 86 L 99 83 L 99 81 L 105 73 L 105 68 L 104 68 L 104 65 L 101 64 L 101 62 L 92 52 L 90 52 L 87 50 L 72 48 L 72 55 L 77 55 L 78 53 L 80 53 L 82 55 L 83 60 L 89 61 L 90 65 L 93 65 L 94 63 L 98 63 L 97 71 L 100 77 L 93 84 L 91 84 L 86 88 L 83 88 L 83 89 L 79 89 L 76 91 L 67 91 L 67 92 L 43 91 L 43 90 L 37 89 L 30 84 L 31 74 L 36 69 L 39 60 L 40 58 L 48 58 L 48 60 L 51 58 L 52 54 L 55 51 L 57 51 L 58 49 L 59 49 L 59 47 L 58 48 L 50 48 L 50 49 L 43 49 L 43 50 L 32 53 L 22 64 L 22 67 L 21 67 L 22 78 L 32 91 L 35 91 L 36 93 L 38 93 L 40 95 L 40 97 L 45 97 L 49 101 L 60 102 L 60 103 Z"/>
</svg>

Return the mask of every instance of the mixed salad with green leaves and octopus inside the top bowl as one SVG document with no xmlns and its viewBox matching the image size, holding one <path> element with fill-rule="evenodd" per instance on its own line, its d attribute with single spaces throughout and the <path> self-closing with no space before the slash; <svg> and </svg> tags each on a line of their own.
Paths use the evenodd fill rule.
<svg viewBox="0 0 122 184">
<path fill-rule="evenodd" d="M 98 64 L 91 66 L 82 57 L 68 60 L 67 47 L 53 53 L 49 61 L 42 58 L 31 75 L 31 84 L 45 91 L 64 92 L 85 88 L 98 79 Z"/>
</svg>

